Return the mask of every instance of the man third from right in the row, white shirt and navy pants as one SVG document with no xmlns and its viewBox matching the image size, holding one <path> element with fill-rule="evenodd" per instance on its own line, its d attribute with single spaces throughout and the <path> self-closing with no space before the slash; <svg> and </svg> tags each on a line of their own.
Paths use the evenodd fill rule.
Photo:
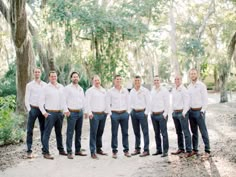
<svg viewBox="0 0 236 177">
<path fill-rule="evenodd" d="M 161 86 L 159 76 L 155 76 L 154 87 L 151 91 L 151 118 L 155 132 L 156 153 L 152 155 L 162 154 L 161 157 L 168 156 L 169 150 L 169 140 L 167 133 L 168 110 L 170 104 L 169 99 L 168 90 Z M 163 142 L 161 142 L 160 134 L 162 135 Z"/>
</svg>

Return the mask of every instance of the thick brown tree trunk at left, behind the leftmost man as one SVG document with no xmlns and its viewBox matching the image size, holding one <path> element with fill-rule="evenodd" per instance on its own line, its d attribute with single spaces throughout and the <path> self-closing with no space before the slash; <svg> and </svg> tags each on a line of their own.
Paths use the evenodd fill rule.
<svg viewBox="0 0 236 177">
<path fill-rule="evenodd" d="M 16 50 L 17 112 L 19 113 L 25 112 L 25 87 L 32 79 L 30 76 L 35 66 L 25 7 L 26 0 L 10 1 L 11 33 Z"/>
</svg>

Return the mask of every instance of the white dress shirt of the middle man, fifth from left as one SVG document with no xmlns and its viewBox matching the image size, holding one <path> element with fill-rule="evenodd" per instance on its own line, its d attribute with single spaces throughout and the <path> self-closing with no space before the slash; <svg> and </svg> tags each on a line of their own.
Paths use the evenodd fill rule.
<svg viewBox="0 0 236 177">
<path fill-rule="evenodd" d="M 129 108 L 129 92 L 125 88 L 121 88 L 120 90 L 112 87 L 108 91 L 108 105 L 109 105 L 109 112 L 111 111 L 128 111 L 130 112 Z"/>
</svg>

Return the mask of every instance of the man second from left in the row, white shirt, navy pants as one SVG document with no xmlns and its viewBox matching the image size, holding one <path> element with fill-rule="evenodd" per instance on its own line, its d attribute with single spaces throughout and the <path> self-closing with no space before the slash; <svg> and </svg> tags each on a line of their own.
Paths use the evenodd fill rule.
<svg viewBox="0 0 236 177">
<path fill-rule="evenodd" d="M 39 99 L 39 109 L 45 117 L 45 130 L 43 135 L 43 154 L 45 159 L 54 159 L 49 153 L 49 138 L 52 128 L 55 127 L 57 149 L 60 155 L 67 155 L 62 142 L 62 125 L 64 115 L 68 115 L 63 85 L 57 82 L 57 73 L 49 72 L 49 83 L 43 89 Z"/>
</svg>

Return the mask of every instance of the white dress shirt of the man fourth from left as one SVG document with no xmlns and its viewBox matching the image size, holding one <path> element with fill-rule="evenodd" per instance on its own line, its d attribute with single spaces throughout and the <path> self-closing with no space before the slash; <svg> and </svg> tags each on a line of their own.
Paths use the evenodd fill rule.
<svg viewBox="0 0 236 177">
<path fill-rule="evenodd" d="M 109 113 L 107 103 L 107 92 L 103 87 L 90 87 L 86 93 L 86 112 L 91 115 L 92 112 Z"/>
</svg>

